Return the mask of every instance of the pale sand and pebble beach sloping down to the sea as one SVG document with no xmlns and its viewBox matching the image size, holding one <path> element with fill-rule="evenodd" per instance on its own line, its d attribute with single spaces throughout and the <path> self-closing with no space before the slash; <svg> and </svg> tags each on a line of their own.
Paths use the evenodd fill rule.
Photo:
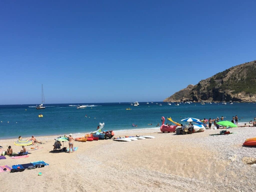
<svg viewBox="0 0 256 192">
<path fill-rule="evenodd" d="M 256 136 L 255 127 L 229 129 L 234 134 L 214 135 L 220 130 L 176 135 L 159 129 L 115 131 L 117 136 L 152 135 L 153 139 L 132 142 L 99 140 L 74 142 L 74 153 L 51 152 L 57 136 L 35 137 L 45 144 L 29 157 L 0 160 L 0 165 L 43 160 L 43 168 L 18 173 L 0 173 L 2 191 L 253 191 L 256 190 L 255 147 L 242 146 Z M 69 134 L 69 133 L 66 133 Z M 73 135 L 74 138 L 84 134 Z M 0 140 L 6 150 L 21 147 L 15 139 Z M 68 146 L 67 142 L 63 143 Z M 31 146 L 26 146 L 30 149 Z M 233 158 L 230 158 L 233 157 Z M 233 161 L 231 160 L 233 159 Z M 38 172 L 42 175 L 38 176 Z"/>
</svg>

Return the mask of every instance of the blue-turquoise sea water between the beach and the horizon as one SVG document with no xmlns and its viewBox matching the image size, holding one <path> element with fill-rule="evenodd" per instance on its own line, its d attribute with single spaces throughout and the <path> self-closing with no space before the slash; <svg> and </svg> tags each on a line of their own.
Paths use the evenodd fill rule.
<svg viewBox="0 0 256 192">
<path fill-rule="evenodd" d="M 139 106 L 130 106 L 130 103 L 80 103 L 89 105 L 84 109 L 77 109 L 77 103 L 47 104 L 42 110 L 37 110 L 35 104 L 0 105 L 0 138 L 84 133 L 96 130 L 99 122 L 105 123 L 104 130 L 154 128 L 157 123 L 161 125 L 162 116 L 171 116 L 174 121 L 180 122 L 187 117 L 209 119 L 217 116 L 231 121 L 232 116 L 238 115 L 239 122 L 245 123 L 256 116 L 254 103 L 181 103 L 179 106 L 163 102 L 139 103 Z M 128 107 L 132 110 L 126 110 Z M 39 113 L 44 117 L 38 118 Z M 133 127 L 132 123 L 138 126 Z"/>
</svg>

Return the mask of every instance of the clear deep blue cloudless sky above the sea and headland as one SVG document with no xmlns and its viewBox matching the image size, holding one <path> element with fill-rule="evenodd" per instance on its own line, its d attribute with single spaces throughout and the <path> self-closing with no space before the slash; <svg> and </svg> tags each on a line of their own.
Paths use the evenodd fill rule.
<svg viewBox="0 0 256 192">
<path fill-rule="evenodd" d="M 161 101 L 256 59 L 255 1 L 1 1 L 0 104 Z"/>
</svg>

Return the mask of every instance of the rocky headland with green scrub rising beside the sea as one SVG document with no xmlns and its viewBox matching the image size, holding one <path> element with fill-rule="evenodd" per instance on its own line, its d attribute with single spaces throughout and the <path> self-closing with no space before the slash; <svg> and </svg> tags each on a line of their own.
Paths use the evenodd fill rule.
<svg viewBox="0 0 256 192">
<path fill-rule="evenodd" d="M 195 86 L 188 85 L 164 102 L 175 101 L 256 101 L 256 60 L 237 65 L 201 80 Z"/>
</svg>

